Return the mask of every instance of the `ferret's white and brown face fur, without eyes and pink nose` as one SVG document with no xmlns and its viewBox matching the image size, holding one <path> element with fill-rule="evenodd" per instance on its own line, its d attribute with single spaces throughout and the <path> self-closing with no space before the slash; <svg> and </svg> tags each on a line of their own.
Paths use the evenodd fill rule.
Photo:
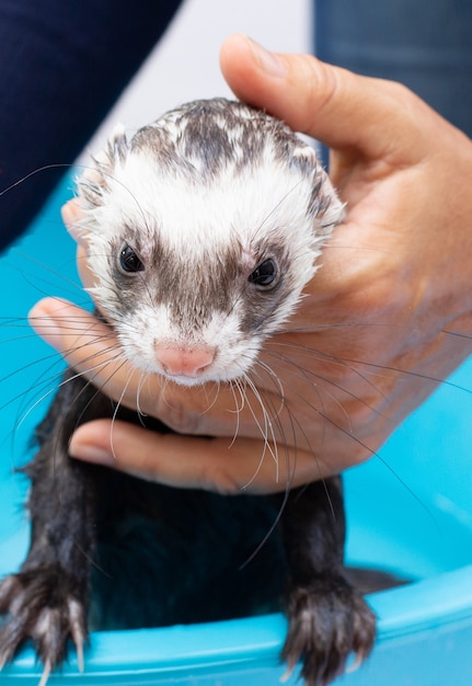
<svg viewBox="0 0 472 686">
<path fill-rule="evenodd" d="M 246 121 L 251 113 L 244 108 Z M 141 369 L 163 373 L 154 354 L 159 345 L 211 346 L 215 361 L 202 382 L 243 375 L 264 338 L 292 313 L 316 268 L 322 241 L 342 217 L 313 151 L 290 138 L 287 160 L 279 129 L 278 137 L 266 132 L 257 155 L 243 163 L 244 117 L 230 126 L 231 151 L 223 163 L 217 160 L 215 173 L 199 150 L 191 148 L 179 167 L 159 160 L 152 146 L 126 155 L 122 146 L 122 158 L 95 185 L 100 198 L 90 203 L 83 222 L 89 264 L 99 276 L 92 295 Z M 182 124 L 180 134 L 177 128 L 171 118 L 172 141 L 185 132 Z M 320 207 L 312 209 L 318 185 Z M 116 271 L 123 243 L 139 253 L 145 268 L 138 274 Z M 280 270 L 273 295 L 249 282 L 270 258 Z"/>
</svg>

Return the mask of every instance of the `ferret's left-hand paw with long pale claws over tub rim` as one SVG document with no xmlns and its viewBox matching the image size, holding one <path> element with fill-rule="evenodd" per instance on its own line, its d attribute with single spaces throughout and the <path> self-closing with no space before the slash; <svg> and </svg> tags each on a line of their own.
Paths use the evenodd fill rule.
<svg viewBox="0 0 472 686">
<path fill-rule="evenodd" d="M 45 665 L 42 686 L 62 662 L 69 639 L 76 644 L 79 668 L 83 670 L 85 610 L 77 593 L 70 592 L 72 585 L 57 567 L 23 571 L 2 581 L 0 614 L 7 617 L 0 625 L 0 670 L 28 639 Z"/>
</svg>

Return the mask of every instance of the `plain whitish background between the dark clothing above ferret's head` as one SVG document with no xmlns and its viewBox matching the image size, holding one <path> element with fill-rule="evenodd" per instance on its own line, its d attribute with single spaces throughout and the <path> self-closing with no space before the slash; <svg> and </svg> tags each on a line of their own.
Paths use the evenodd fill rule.
<svg viewBox="0 0 472 686">
<path fill-rule="evenodd" d="M 188 100 L 230 95 L 218 55 L 238 32 L 278 52 L 311 52 L 311 1 L 186 0 L 84 155 L 100 150 L 117 122 L 133 132 Z"/>
</svg>

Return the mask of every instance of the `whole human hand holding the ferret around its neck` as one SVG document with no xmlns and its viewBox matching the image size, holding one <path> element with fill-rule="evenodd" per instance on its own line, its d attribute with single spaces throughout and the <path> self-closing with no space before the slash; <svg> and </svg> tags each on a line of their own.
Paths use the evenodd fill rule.
<svg viewBox="0 0 472 686">
<path fill-rule="evenodd" d="M 249 390 L 237 413 L 228 387 L 166 382 L 163 390 L 159 377 L 140 390 L 141 411 L 179 432 L 217 438 L 161 436 L 117 422 L 112 450 L 110 423 L 99 421 L 76 432 L 71 454 L 173 485 L 277 491 L 370 457 L 471 352 L 472 144 L 403 87 L 309 56 L 270 56 L 235 36 L 223 45 L 221 66 L 240 99 L 331 147 L 332 181 L 347 203 L 290 331 L 262 353 L 284 389 L 281 407 L 269 377 L 260 388 L 268 412 L 279 410 L 268 434 L 278 459 L 265 449 L 264 414 Z M 69 224 L 76 210 L 66 210 Z M 71 333 L 78 315 L 80 331 Z M 137 374 L 113 362 L 88 371 L 91 356 L 110 361 L 111 332 L 84 317 L 48 299 L 32 322 L 70 365 L 136 407 Z"/>
</svg>

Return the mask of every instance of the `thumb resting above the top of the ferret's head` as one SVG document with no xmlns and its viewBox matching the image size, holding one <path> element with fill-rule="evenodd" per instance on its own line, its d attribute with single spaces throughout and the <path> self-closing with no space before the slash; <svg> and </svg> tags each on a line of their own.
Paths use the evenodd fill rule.
<svg viewBox="0 0 472 686">
<path fill-rule="evenodd" d="M 423 156 L 427 137 L 419 133 L 417 112 L 435 113 L 407 89 L 354 75 L 309 55 L 267 53 L 250 38 L 235 35 L 221 48 L 220 65 L 235 95 L 266 108 L 296 130 L 332 148 L 355 149 L 369 159 Z M 399 145 L 396 132 L 408 140 Z M 422 117 L 422 127 L 425 117 Z"/>
</svg>

